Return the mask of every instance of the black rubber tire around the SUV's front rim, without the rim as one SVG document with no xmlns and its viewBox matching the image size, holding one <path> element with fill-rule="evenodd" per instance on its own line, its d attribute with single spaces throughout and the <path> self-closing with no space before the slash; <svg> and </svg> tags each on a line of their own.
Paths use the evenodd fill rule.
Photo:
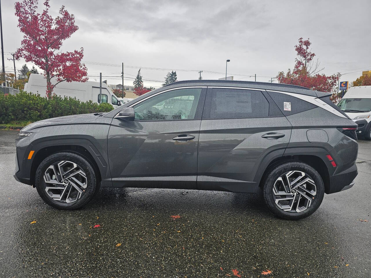
<svg viewBox="0 0 371 278">
<path fill-rule="evenodd" d="M 46 182 L 44 180 L 45 171 L 53 163 L 63 160 L 76 163 L 83 170 L 83 172 L 85 172 L 86 175 L 87 186 L 85 188 L 85 191 L 83 192 L 83 194 L 81 194 L 81 198 L 71 203 L 56 201 L 55 199 L 51 198 L 45 191 L 46 188 Z M 45 203 L 52 206 L 53 208 L 64 210 L 81 208 L 91 200 L 91 198 L 95 195 L 95 193 L 98 191 L 97 189 L 99 188 L 96 173 L 91 163 L 89 163 L 88 160 L 86 160 L 82 156 L 72 152 L 53 153 L 52 155 L 45 158 L 40 163 L 39 167 L 36 170 L 35 185 L 37 192 L 39 193 L 40 197 L 43 199 Z"/>
</svg>

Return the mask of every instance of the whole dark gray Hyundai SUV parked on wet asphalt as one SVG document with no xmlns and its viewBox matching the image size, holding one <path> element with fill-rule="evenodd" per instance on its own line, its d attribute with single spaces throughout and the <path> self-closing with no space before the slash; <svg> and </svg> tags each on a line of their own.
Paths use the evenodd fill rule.
<svg viewBox="0 0 371 278">
<path fill-rule="evenodd" d="M 305 87 L 171 83 L 108 113 L 42 120 L 16 139 L 17 181 L 58 209 L 105 187 L 257 193 L 286 219 L 354 185 L 357 124 Z"/>
</svg>

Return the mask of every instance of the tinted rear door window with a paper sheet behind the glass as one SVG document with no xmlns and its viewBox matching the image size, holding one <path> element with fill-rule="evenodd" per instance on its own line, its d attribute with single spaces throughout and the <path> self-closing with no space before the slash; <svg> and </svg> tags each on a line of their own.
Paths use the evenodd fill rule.
<svg viewBox="0 0 371 278">
<path fill-rule="evenodd" d="M 266 118 L 269 102 L 260 91 L 211 89 L 210 119 Z"/>
</svg>

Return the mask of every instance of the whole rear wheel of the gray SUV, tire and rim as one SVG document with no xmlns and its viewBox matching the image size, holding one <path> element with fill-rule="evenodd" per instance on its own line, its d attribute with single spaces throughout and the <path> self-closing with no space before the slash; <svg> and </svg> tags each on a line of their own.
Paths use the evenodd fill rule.
<svg viewBox="0 0 371 278">
<path fill-rule="evenodd" d="M 271 168 L 262 189 L 270 211 L 290 220 L 311 215 L 324 197 L 324 183 L 319 173 L 299 161 L 285 162 Z"/>
</svg>

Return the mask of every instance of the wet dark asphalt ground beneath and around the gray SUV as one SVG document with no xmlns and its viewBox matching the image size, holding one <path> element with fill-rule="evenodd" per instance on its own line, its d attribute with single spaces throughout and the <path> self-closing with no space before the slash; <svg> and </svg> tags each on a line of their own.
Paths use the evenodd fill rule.
<svg viewBox="0 0 371 278">
<path fill-rule="evenodd" d="M 13 178 L 16 135 L 0 130 L 0 277 L 371 277 L 371 142 L 353 188 L 287 221 L 259 195 L 195 190 L 103 188 L 58 211 Z"/>
</svg>

